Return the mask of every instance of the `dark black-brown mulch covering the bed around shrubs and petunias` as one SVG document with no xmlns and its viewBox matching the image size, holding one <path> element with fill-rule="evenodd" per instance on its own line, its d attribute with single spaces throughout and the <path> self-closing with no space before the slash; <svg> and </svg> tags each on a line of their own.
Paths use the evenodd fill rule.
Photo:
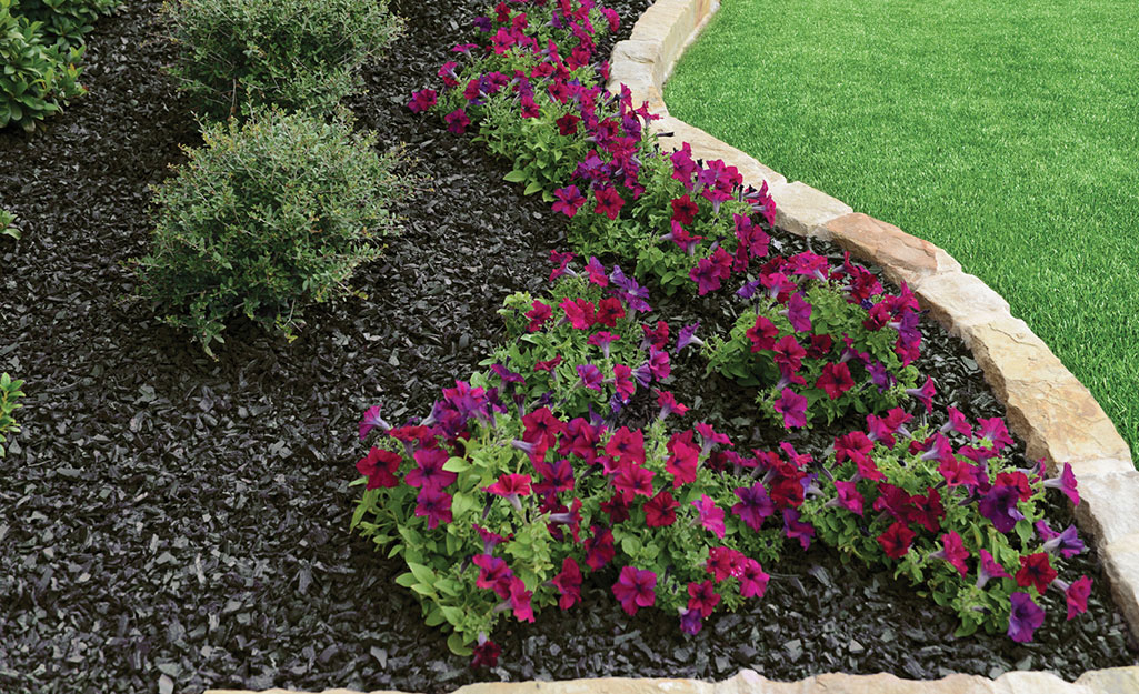
<svg viewBox="0 0 1139 694">
<path fill-rule="evenodd" d="M 352 104 L 382 142 L 408 143 L 434 190 L 402 210 L 405 233 L 385 259 L 359 273 L 370 299 L 313 311 L 293 345 L 236 322 L 214 362 L 126 298 L 123 262 L 149 240 L 148 185 L 182 159 L 179 144 L 198 142 L 189 105 L 158 69 L 172 47 L 153 23 L 157 1 L 99 23 L 88 98 L 46 131 L 0 133 L 2 205 L 24 231 L 0 240 L 0 370 L 25 378 L 28 394 L 24 431 L 0 461 L 0 691 L 441 692 L 478 679 L 720 679 L 739 668 L 775 679 L 1016 668 L 1074 679 L 1136 662 L 1093 552 L 1068 568 L 1096 579 L 1090 614 L 1065 622 L 1054 596 L 1038 642 L 1017 645 L 953 639 L 951 614 L 818 544 L 769 567 L 767 597 L 696 637 L 673 615 L 626 618 L 595 584 L 582 608 L 495 634 L 498 669 L 473 672 L 450 655 L 393 583 L 398 563 L 347 531 L 362 453 L 354 424 L 375 403 L 390 419 L 425 413 L 440 387 L 475 370 L 502 339 L 502 298 L 541 290 L 564 224 L 502 182 L 502 163 L 404 108 L 480 6 L 446 5 L 394 3 L 409 34 Z M 612 5 L 632 18 L 647 3 Z M 657 307 L 674 325 L 721 320 L 711 301 Z M 953 393 L 942 405 L 1001 414 L 959 342 L 936 328 L 926 340 L 920 366 Z M 732 421 L 746 393 L 686 363 L 672 386 L 682 402 L 768 440 Z M 827 433 L 795 445 L 818 451 Z"/>
</svg>

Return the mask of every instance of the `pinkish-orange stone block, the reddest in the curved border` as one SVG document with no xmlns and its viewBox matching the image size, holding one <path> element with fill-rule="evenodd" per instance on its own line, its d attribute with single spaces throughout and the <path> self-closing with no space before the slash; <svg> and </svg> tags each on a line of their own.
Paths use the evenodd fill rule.
<svg viewBox="0 0 1139 694">
<path fill-rule="evenodd" d="M 880 265 L 895 283 L 913 286 L 926 275 L 961 268 L 960 263 L 929 241 L 862 213 L 843 215 L 826 226 L 838 246 Z"/>
</svg>

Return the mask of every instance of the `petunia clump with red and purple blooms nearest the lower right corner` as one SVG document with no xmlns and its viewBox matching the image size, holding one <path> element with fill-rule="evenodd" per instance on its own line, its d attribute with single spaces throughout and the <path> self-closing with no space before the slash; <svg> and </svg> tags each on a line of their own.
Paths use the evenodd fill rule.
<svg viewBox="0 0 1139 694">
<path fill-rule="evenodd" d="M 1032 641 L 1049 588 L 1064 594 L 1068 619 L 1087 611 L 1091 579 L 1058 578 L 1083 542 L 1074 526 L 1049 527 L 1041 507 L 1047 487 L 1079 504 L 1072 466 L 1055 479 L 1044 479 L 1042 465 L 1015 468 L 1005 455 L 1013 439 L 997 418 L 974 427 L 950 407 L 940 430 L 912 431 L 909 419 L 901 410 L 868 415 L 865 430 L 835 439 L 819 494 L 804 504 L 819 537 L 925 584 L 960 617 L 958 636 L 984 628 Z"/>
</svg>

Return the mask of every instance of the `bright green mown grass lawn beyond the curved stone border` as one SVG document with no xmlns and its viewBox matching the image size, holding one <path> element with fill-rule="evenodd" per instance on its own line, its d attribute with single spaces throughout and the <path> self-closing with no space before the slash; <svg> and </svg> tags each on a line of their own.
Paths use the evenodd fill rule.
<svg viewBox="0 0 1139 694">
<path fill-rule="evenodd" d="M 1139 461 L 1139 2 L 722 0 L 665 100 L 952 254 Z"/>
</svg>

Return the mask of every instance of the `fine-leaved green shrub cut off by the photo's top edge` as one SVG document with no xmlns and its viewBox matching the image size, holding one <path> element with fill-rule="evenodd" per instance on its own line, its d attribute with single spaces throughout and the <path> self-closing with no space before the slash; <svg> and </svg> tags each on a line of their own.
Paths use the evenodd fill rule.
<svg viewBox="0 0 1139 694">
<path fill-rule="evenodd" d="M 403 31 L 384 0 L 182 0 L 164 11 L 181 47 L 172 74 L 221 117 L 268 104 L 329 111 Z"/>
</svg>

